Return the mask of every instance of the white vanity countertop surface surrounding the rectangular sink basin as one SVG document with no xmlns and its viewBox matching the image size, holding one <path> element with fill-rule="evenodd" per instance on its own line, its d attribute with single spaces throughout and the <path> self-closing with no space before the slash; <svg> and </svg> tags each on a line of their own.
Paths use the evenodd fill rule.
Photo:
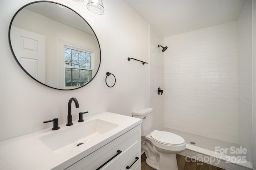
<svg viewBox="0 0 256 170">
<path fill-rule="evenodd" d="M 54 151 L 44 145 L 39 138 L 55 133 L 56 131 L 70 128 L 66 126 L 66 123 L 59 125 L 60 129 L 56 131 L 52 131 L 51 128 L 48 128 L 2 141 L 0 145 L 1 170 L 65 169 L 141 123 L 141 119 L 110 112 L 84 117 L 84 122 L 82 123 L 92 121 L 93 119 L 101 119 L 118 124 L 119 126 L 104 133 L 100 139 L 88 142 L 86 145 L 80 145 L 62 154 L 54 153 Z M 80 124 L 77 121 L 73 121 L 73 123 L 74 125 L 72 126 Z"/>
</svg>

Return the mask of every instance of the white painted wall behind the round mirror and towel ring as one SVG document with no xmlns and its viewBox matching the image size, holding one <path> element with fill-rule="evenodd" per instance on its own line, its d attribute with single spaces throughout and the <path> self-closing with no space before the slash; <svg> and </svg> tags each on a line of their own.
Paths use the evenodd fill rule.
<svg viewBox="0 0 256 170">
<path fill-rule="evenodd" d="M 0 28 L 0 129 L 1 141 L 52 127 L 43 121 L 59 118 L 66 123 L 68 100 L 75 97 L 80 107 L 72 104 L 73 121 L 78 112 L 90 116 L 103 111 L 132 116 L 132 111 L 149 107 L 149 64 L 128 61 L 134 57 L 149 60 L 149 24 L 124 1 L 104 1 L 105 14 L 93 14 L 83 3 L 56 0 L 78 12 L 94 29 L 101 47 L 102 60 L 98 74 L 85 87 L 55 90 L 35 82 L 18 66 L 8 45 L 8 27 L 14 13 L 32 0 L 1 0 Z M 132 25 L 132 26 L 131 26 Z M 106 72 L 116 76 L 116 85 L 108 88 Z M 113 117 L 114 119 L 114 117 Z"/>
</svg>

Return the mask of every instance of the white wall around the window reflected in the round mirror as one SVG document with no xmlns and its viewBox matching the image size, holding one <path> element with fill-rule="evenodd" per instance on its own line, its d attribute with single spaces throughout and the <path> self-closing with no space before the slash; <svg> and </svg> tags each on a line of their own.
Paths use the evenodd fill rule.
<svg viewBox="0 0 256 170">
<path fill-rule="evenodd" d="M 59 84 L 58 81 L 60 79 L 60 40 L 76 45 L 77 47 L 95 50 L 98 63 L 100 61 L 100 49 L 98 48 L 96 37 L 63 23 L 54 21 L 30 10 L 23 9 L 15 16 L 12 26 L 38 33 L 46 37 L 45 82 L 48 86 L 54 88 L 62 88 L 63 86 L 60 87 L 61 83 Z M 99 65 L 98 63 L 97 66 Z M 64 63 L 61 64 L 61 66 L 63 65 Z M 96 71 L 97 70 L 95 70 L 95 72 Z"/>
</svg>

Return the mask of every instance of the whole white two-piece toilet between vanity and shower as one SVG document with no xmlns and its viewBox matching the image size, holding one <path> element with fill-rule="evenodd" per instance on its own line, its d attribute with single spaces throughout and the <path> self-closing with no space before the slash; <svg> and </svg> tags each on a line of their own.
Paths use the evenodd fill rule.
<svg viewBox="0 0 256 170">
<path fill-rule="evenodd" d="M 142 119 L 142 148 L 147 156 L 146 163 L 157 170 L 178 170 L 176 153 L 186 149 L 185 140 L 174 133 L 152 130 L 152 108 L 132 112 L 133 117 Z"/>
</svg>

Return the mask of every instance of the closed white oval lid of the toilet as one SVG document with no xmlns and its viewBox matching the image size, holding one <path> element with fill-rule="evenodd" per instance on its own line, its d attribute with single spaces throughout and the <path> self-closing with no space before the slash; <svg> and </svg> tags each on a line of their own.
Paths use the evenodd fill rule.
<svg viewBox="0 0 256 170">
<path fill-rule="evenodd" d="M 151 137 L 155 141 L 166 145 L 181 145 L 185 142 L 185 140 L 179 135 L 166 131 L 154 130 L 151 133 Z"/>
</svg>

